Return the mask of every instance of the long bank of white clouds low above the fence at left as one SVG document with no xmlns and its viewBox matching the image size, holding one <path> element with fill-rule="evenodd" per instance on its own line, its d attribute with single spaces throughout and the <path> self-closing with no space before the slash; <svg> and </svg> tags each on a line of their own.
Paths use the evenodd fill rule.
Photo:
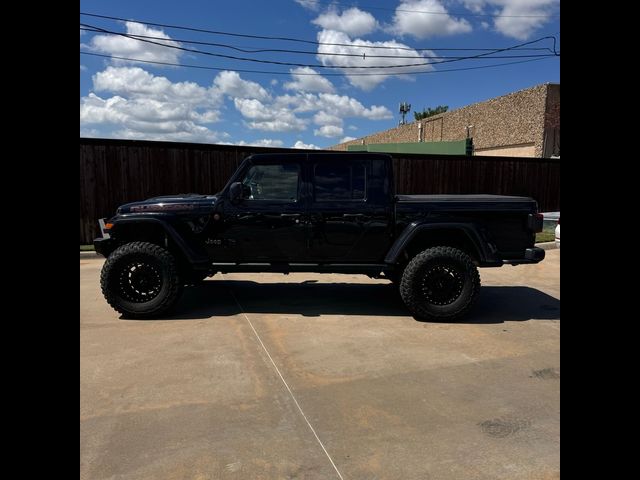
<svg viewBox="0 0 640 480">
<path fill-rule="evenodd" d="M 301 132 L 314 124 L 316 135 L 339 138 L 344 136 L 345 118 L 393 118 L 385 106 L 365 106 L 347 95 L 298 91 L 272 96 L 233 71 L 218 74 L 208 87 L 173 82 L 137 66 L 108 66 L 92 79 L 92 90 L 80 99 L 81 131 L 91 128 L 102 137 L 226 141 L 227 133 L 210 128 L 221 120 L 225 96 L 244 127 L 265 132 Z M 280 142 L 263 138 L 252 144 L 282 146 Z"/>
</svg>

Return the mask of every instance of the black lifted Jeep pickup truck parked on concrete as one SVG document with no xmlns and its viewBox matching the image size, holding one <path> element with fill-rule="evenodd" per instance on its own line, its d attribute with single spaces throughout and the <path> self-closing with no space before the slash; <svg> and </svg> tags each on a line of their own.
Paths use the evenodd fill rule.
<svg viewBox="0 0 640 480">
<path fill-rule="evenodd" d="M 478 294 L 477 267 L 545 253 L 535 200 L 398 195 L 391 157 L 371 153 L 251 155 L 215 195 L 128 203 L 100 225 L 102 292 L 130 317 L 217 272 L 323 272 L 388 278 L 414 317 L 451 321 Z"/>
</svg>

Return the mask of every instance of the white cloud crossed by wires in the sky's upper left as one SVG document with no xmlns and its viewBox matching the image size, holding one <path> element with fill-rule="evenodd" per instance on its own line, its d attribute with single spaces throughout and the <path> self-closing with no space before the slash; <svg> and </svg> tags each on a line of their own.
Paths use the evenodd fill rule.
<svg viewBox="0 0 640 480">
<path fill-rule="evenodd" d="M 180 46 L 178 42 L 171 40 L 171 37 L 162 30 L 148 28 L 137 22 L 126 22 L 125 26 L 127 33 L 130 35 L 160 37 L 160 39 L 153 39 L 152 41 L 174 47 Z M 90 48 L 107 55 L 168 63 L 178 63 L 181 53 L 180 50 L 175 48 L 154 45 L 120 35 L 95 35 L 91 39 Z M 122 60 L 118 60 L 118 62 L 121 63 Z"/>
</svg>

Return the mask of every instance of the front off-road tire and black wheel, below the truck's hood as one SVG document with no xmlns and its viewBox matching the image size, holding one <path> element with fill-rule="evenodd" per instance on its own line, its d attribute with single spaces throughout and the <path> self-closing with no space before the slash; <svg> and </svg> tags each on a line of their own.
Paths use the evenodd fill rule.
<svg viewBox="0 0 640 480">
<path fill-rule="evenodd" d="M 102 294 L 116 311 L 150 318 L 168 311 L 182 293 L 176 260 L 164 248 L 132 242 L 117 248 L 100 274 Z"/>
</svg>

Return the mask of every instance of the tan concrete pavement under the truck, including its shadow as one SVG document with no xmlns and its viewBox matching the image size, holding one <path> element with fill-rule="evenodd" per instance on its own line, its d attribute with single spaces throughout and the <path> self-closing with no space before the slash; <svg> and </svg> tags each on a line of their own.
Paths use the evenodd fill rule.
<svg viewBox="0 0 640 480">
<path fill-rule="evenodd" d="M 559 478 L 560 251 L 461 323 L 383 280 L 217 275 L 121 319 L 80 260 L 81 479 Z"/>
</svg>

